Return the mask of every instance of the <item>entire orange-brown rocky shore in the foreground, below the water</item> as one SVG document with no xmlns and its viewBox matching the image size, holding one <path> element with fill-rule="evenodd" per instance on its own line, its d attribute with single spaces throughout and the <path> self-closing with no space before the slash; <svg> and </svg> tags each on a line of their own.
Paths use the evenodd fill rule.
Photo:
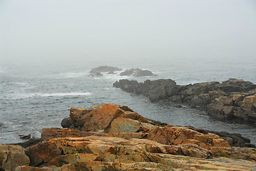
<svg viewBox="0 0 256 171">
<path fill-rule="evenodd" d="M 253 170 L 256 149 L 234 135 L 143 118 L 123 105 L 71 108 L 41 140 L 0 145 L 0 170 Z M 225 137 L 225 138 L 224 138 Z M 243 139 L 241 136 L 240 139 Z M 250 142 L 245 138 L 245 144 Z"/>
</svg>

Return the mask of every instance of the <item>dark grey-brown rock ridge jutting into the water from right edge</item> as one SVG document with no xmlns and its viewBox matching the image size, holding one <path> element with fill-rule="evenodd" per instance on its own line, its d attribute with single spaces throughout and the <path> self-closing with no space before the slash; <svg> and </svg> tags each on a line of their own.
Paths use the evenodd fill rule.
<svg viewBox="0 0 256 171">
<path fill-rule="evenodd" d="M 120 80 L 113 86 L 146 95 L 153 102 L 168 100 L 205 110 L 213 118 L 256 122 L 256 85 L 249 81 L 230 78 L 222 83 L 213 81 L 180 86 L 170 79 L 144 83 Z"/>
</svg>

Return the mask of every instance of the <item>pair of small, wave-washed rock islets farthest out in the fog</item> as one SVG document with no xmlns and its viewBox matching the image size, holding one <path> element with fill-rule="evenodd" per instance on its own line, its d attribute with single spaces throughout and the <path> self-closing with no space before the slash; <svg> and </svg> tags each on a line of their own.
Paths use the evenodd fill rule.
<svg viewBox="0 0 256 171">
<path fill-rule="evenodd" d="M 103 76 L 103 73 L 108 74 L 117 74 L 116 71 L 123 71 L 121 68 L 113 67 L 113 66 L 99 66 L 97 68 L 93 68 L 90 71 L 91 77 L 99 77 Z M 143 77 L 143 76 L 156 76 L 151 71 L 142 70 L 140 68 L 132 68 L 120 73 L 120 76 L 135 76 L 135 77 Z"/>
</svg>

